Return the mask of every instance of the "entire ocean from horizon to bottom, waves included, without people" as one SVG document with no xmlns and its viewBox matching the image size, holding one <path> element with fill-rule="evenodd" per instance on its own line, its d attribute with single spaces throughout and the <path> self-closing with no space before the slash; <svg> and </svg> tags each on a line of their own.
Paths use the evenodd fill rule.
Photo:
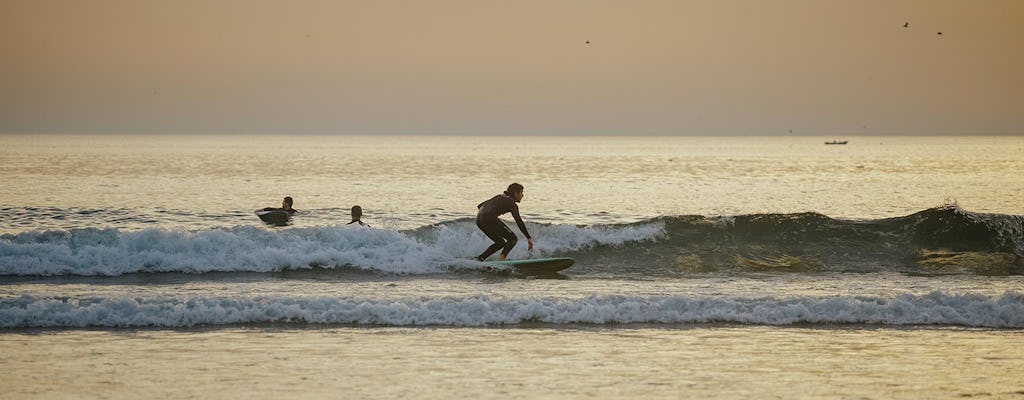
<svg viewBox="0 0 1024 400">
<path fill-rule="evenodd" d="M 1024 137 L 833 139 L 0 135 L 0 398 L 1024 398 Z"/>
</svg>

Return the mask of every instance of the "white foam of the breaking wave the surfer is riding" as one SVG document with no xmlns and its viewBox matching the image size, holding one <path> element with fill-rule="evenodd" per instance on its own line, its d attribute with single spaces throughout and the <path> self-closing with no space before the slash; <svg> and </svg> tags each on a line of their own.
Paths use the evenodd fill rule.
<svg viewBox="0 0 1024 400">
<path fill-rule="evenodd" d="M 627 227 L 535 225 L 536 255 L 651 239 L 659 224 Z M 117 229 L 27 232 L 0 238 L 0 274 L 121 275 L 136 272 L 270 272 L 340 266 L 419 274 L 470 264 L 489 243 L 471 222 L 421 233 L 355 226 L 201 231 Z M 526 254 L 525 243 L 513 257 Z"/>
</svg>

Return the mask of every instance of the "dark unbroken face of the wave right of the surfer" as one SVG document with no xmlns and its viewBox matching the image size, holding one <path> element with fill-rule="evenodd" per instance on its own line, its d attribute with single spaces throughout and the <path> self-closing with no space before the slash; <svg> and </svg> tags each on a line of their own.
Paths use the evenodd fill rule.
<svg viewBox="0 0 1024 400">
<path fill-rule="evenodd" d="M 1024 217 L 945 206 L 881 220 L 816 213 L 660 219 L 665 236 L 574 255 L 595 268 L 1021 274 Z M 599 267 L 598 267 L 599 266 Z M 658 271 L 652 271 L 651 269 Z"/>
</svg>

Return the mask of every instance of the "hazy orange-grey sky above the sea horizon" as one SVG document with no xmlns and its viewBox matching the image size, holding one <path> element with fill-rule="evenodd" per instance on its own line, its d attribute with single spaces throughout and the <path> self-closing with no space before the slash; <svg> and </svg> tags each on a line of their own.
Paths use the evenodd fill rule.
<svg viewBox="0 0 1024 400">
<path fill-rule="evenodd" d="M 1024 1 L 0 0 L 0 133 L 791 130 L 1024 134 Z"/>
</svg>

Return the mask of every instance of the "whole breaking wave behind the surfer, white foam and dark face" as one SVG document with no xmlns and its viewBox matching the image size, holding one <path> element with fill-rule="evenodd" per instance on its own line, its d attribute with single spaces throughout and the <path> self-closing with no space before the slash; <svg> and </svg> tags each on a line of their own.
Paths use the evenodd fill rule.
<svg viewBox="0 0 1024 400">
<path fill-rule="evenodd" d="M 530 224 L 532 254 L 569 256 L 571 273 L 714 271 L 1024 273 L 1024 217 L 955 206 L 879 220 L 817 213 L 675 216 L 632 224 Z M 0 275 L 273 272 L 350 268 L 426 274 L 479 268 L 488 245 L 470 219 L 409 231 L 351 226 L 198 231 L 71 229 L 0 235 Z"/>
</svg>

